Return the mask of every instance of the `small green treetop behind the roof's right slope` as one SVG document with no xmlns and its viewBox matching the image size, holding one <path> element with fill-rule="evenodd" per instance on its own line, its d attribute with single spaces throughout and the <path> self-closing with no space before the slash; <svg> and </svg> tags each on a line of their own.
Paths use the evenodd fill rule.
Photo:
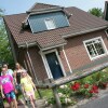
<svg viewBox="0 0 108 108">
<path fill-rule="evenodd" d="M 98 9 L 98 8 L 93 8 L 91 10 L 89 10 L 89 13 L 91 13 L 97 17 L 103 17 L 103 14 L 104 14 L 102 9 Z"/>
</svg>

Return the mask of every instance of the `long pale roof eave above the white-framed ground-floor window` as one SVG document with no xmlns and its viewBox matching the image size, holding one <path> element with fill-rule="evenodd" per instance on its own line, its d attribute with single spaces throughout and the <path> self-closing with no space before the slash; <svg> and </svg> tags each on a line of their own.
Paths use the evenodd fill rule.
<svg viewBox="0 0 108 108">
<path fill-rule="evenodd" d="M 98 27 L 98 28 L 94 28 L 94 29 L 89 29 L 89 30 L 75 32 L 75 33 L 63 35 L 63 38 L 69 38 L 69 37 L 75 37 L 75 36 L 83 35 L 83 33 L 89 33 L 89 32 L 92 32 L 92 31 L 105 29 L 107 27 L 108 27 L 108 25 L 107 26 L 103 26 L 103 27 Z"/>
</svg>

